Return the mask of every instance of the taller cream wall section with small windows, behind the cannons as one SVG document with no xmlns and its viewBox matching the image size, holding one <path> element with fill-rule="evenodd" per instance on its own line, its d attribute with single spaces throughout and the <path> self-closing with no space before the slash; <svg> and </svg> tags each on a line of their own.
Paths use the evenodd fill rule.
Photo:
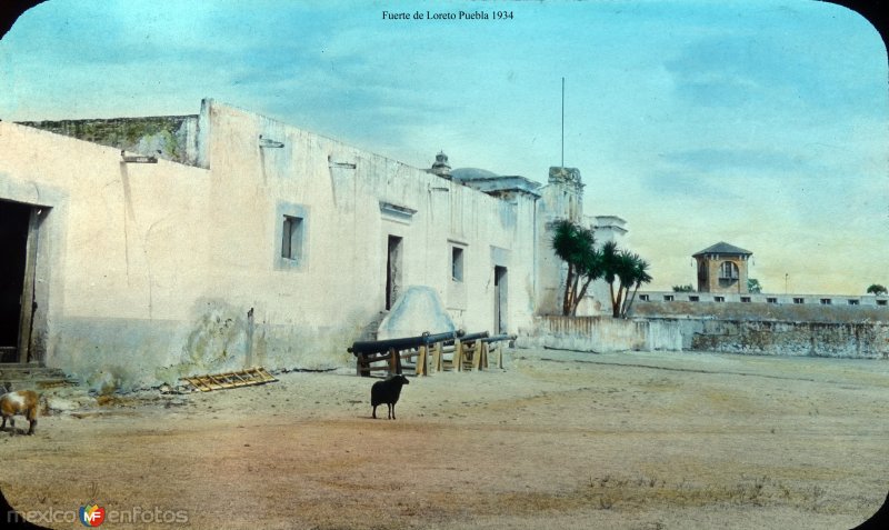
<svg viewBox="0 0 889 530">
<path fill-rule="evenodd" d="M 535 203 L 505 201 L 342 142 L 210 102 L 214 284 L 242 312 L 254 308 L 269 357 L 351 361 L 346 348 L 386 306 L 388 238 L 402 239 L 400 287 L 433 289 L 453 323 L 493 330 L 495 266 L 508 269 L 508 324 L 533 308 Z M 259 149 L 262 134 L 283 143 Z M 306 256 L 279 267 L 281 207 L 302 211 Z M 244 214 L 244 212 L 250 212 Z M 451 248 L 463 249 L 455 281 Z"/>
</svg>

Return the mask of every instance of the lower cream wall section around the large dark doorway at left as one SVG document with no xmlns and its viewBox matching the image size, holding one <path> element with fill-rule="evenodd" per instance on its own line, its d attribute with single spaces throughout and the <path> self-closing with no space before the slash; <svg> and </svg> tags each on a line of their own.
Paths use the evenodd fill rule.
<svg viewBox="0 0 889 530">
<path fill-rule="evenodd" d="M 9 122 L 0 151 L 0 200 L 41 212 L 39 357 L 97 389 L 157 381 L 208 290 L 208 171 Z"/>
</svg>

